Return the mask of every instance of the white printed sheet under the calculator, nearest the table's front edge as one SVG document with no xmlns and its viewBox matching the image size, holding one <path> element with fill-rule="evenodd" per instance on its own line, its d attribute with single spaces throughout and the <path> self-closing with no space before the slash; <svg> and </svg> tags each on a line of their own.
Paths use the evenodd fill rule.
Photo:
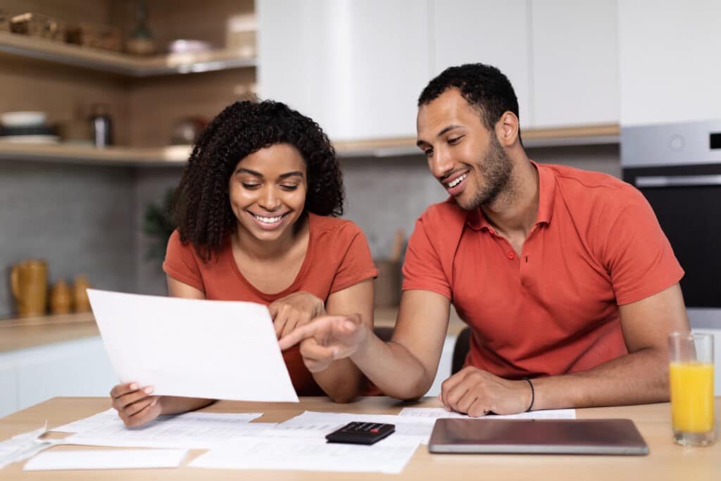
<svg viewBox="0 0 721 481">
<path fill-rule="evenodd" d="M 337 472 L 402 472 L 417 444 L 394 444 L 389 438 L 372 446 L 327 444 L 324 438 L 253 437 L 233 446 L 211 449 L 190 467 L 215 469 L 293 469 Z"/>
</svg>

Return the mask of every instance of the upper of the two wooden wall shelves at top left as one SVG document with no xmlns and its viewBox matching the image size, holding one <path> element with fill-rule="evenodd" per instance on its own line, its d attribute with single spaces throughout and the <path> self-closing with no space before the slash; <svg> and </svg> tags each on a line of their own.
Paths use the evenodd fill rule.
<svg viewBox="0 0 721 481">
<path fill-rule="evenodd" d="M 0 52 L 131 77 L 193 74 L 256 65 L 254 57 L 243 56 L 239 50 L 173 53 L 143 58 L 9 32 L 0 32 Z"/>
</svg>

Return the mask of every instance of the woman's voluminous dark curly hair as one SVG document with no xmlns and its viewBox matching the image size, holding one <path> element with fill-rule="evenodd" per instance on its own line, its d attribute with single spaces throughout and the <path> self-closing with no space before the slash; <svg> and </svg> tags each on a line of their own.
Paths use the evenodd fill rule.
<svg viewBox="0 0 721 481">
<path fill-rule="evenodd" d="M 236 165 L 249 154 L 275 144 L 296 147 L 306 162 L 304 211 L 342 215 L 340 166 L 319 125 L 281 102 L 235 102 L 200 134 L 171 204 L 181 242 L 191 242 L 203 260 L 220 252 L 236 225 L 228 194 Z"/>
</svg>

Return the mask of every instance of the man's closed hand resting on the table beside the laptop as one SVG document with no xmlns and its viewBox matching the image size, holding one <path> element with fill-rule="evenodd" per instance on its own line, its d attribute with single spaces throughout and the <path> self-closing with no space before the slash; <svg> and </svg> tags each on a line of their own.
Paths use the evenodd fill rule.
<svg viewBox="0 0 721 481">
<path fill-rule="evenodd" d="M 509 381 L 468 366 L 443 381 L 440 398 L 446 410 L 473 418 L 489 412 L 517 414 L 531 405 L 531 387 L 527 381 Z"/>
</svg>

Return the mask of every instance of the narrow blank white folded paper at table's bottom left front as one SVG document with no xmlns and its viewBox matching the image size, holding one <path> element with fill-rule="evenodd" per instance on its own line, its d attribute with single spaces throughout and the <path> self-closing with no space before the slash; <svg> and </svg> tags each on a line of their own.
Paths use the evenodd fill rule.
<svg viewBox="0 0 721 481">
<path fill-rule="evenodd" d="M 187 449 L 93 449 L 48 451 L 25 463 L 25 471 L 48 469 L 144 469 L 178 467 Z"/>
</svg>

